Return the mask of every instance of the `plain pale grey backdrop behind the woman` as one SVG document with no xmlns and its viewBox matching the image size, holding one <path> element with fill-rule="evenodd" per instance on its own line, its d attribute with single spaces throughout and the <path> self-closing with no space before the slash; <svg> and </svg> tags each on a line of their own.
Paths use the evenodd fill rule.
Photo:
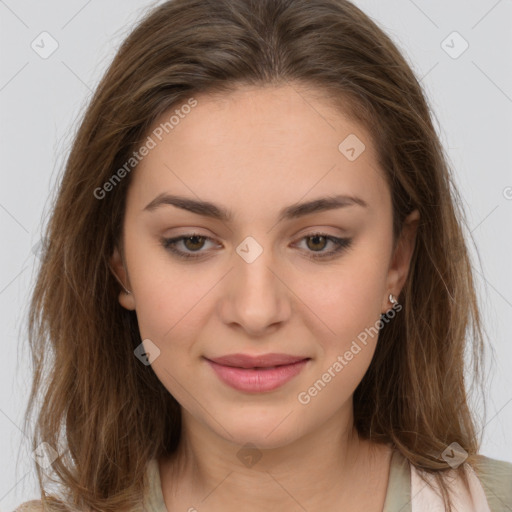
<svg viewBox="0 0 512 512">
<path fill-rule="evenodd" d="M 21 419 L 31 371 L 24 326 L 43 213 L 91 92 L 133 24 L 157 3 L 0 0 L 0 511 L 38 497 Z M 355 3 L 421 79 L 447 148 L 494 351 L 481 453 L 512 461 L 512 2 Z M 47 58 L 43 44 L 33 49 L 41 37 L 44 51 L 58 44 Z"/>
</svg>

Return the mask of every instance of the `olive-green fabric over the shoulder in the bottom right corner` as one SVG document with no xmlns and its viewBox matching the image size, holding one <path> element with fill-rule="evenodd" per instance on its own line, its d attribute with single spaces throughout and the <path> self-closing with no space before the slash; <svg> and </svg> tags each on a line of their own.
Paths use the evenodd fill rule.
<svg viewBox="0 0 512 512">
<path fill-rule="evenodd" d="M 472 469 L 478 476 L 492 512 L 512 504 L 512 463 L 477 455 Z"/>
</svg>

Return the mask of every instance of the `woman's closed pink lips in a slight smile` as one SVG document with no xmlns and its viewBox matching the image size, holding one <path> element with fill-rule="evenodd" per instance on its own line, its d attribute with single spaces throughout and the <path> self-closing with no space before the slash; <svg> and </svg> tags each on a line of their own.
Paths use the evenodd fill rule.
<svg viewBox="0 0 512 512">
<path fill-rule="evenodd" d="M 239 391 L 262 393 L 279 388 L 305 367 L 309 358 L 287 354 L 248 356 L 232 354 L 206 359 L 217 376 Z M 275 368 L 272 368 L 275 367 Z"/>
</svg>

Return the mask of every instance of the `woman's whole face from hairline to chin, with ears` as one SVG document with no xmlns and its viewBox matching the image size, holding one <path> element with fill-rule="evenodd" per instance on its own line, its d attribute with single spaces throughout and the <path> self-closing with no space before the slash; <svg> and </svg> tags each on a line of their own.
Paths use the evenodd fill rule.
<svg viewBox="0 0 512 512">
<path fill-rule="evenodd" d="M 350 418 L 413 231 L 393 253 L 372 141 L 327 100 L 291 86 L 195 100 L 157 120 L 132 176 L 120 302 L 187 421 L 276 447 Z M 209 362 L 232 354 L 306 361 Z"/>
</svg>

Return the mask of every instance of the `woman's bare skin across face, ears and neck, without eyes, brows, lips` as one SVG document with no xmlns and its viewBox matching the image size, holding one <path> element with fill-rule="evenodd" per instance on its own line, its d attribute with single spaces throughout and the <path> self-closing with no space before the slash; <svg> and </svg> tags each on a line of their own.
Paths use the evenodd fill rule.
<svg viewBox="0 0 512 512">
<path fill-rule="evenodd" d="M 409 271 L 418 214 L 393 250 L 391 195 L 367 131 L 328 99 L 289 85 L 195 96 L 192 109 L 142 160 L 127 197 L 123 250 L 112 266 L 119 302 L 135 310 L 142 339 L 160 350 L 152 369 L 182 407 L 176 454 L 159 461 L 169 510 L 382 510 L 391 450 L 358 437 L 352 396 L 377 336 L 308 404 L 297 396 L 332 367 L 365 328 L 390 310 Z M 158 119 L 154 127 L 169 114 Z M 153 127 L 153 128 L 154 128 Z M 356 134 L 366 149 L 349 161 L 338 146 Z M 229 208 L 233 221 L 175 206 L 144 208 L 162 192 Z M 278 222 L 289 205 L 344 194 L 346 206 Z M 335 246 L 306 236 L 350 237 Z M 163 237 L 211 237 L 181 260 Z M 252 263 L 236 248 L 252 236 Z M 400 313 L 397 313 L 400 314 Z M 249 394 L 221 382 L 204 357 L 232 353 L 310 357 L 277 390 Z M 259 460 L 237 456 L 252 443 Z"/>
</svg>

